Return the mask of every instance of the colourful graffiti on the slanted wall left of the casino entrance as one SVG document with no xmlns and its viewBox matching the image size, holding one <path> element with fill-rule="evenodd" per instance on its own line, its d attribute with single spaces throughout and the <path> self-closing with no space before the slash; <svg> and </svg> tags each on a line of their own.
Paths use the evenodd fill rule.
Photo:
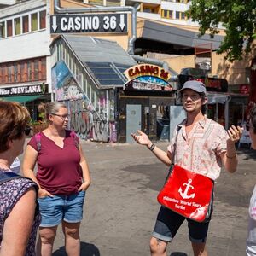
<svg viewBox="0 0 256 256">
<path fill-rule="evenodd" d="M 96 111 L 63 61 L 52 68 L 52 77 L 55 99 L 64 102 L 71 115 L 69 128 L 84 139 L 115 143 L 117 141 L 116 125 L 115 122 L 107 122 L 108 104 L 105 92 L 100 93 L 97 104 L 100 110 Z M 110 105 L 113 104 L 110 103 Z"/>
</svg>

